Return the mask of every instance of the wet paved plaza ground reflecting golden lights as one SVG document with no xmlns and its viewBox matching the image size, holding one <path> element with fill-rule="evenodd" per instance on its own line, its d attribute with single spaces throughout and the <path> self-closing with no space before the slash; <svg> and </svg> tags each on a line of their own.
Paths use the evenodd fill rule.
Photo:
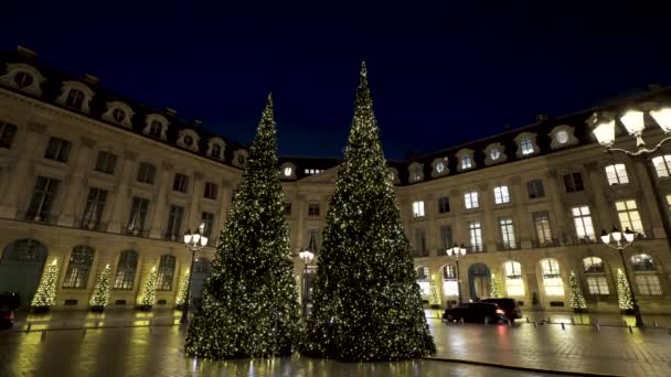
<svg viewBox="0 0 671 377">
<path fill-rule="evenodd" d="M 542 314 L 539 319 L 548 316 Z M 606 319 L 599 322 L 608 322 Z M 345 364 L 300 356 L 194 360 L 183 355 L 184 327 L 173 325 L 179 322 L 179 312 L 172 311 L 110 312 L 105 316 L 54 313 L 19 320 L 23 323 L 14 331 L 0 332 L 0 376 L 543 376 L 552 375 L 552 370 L 671 376 L 671 334 L 662 327 L 630 331 L 604 325 L 597 331 L 593 325 L 565 325 L 562 330 L 558 323 L 533 325 L 521 321 L 513 326 L 484 326 L 429 319 L 438 347 L 432 357 Z M 25 331 L 26 320 L 30 332 Z M 611 320 L 621 323 L 621 319 Z M 70 328 L 55 330 L 63 327 Z"/>
</svg>

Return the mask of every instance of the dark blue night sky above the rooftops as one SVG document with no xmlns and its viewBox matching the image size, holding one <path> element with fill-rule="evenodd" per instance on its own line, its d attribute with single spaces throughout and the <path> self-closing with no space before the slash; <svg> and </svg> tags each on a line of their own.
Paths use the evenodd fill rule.
<svg viewBox="0 0 671 377">
<path fill-rule="evenodd" d="M 392 159 L 671 84 L 669 10 L 545 2 L 7 1 L 0 49 L 243 143 L 271 90 L 292 155 L 341 157 L 362 60 Z"/>
</svg>

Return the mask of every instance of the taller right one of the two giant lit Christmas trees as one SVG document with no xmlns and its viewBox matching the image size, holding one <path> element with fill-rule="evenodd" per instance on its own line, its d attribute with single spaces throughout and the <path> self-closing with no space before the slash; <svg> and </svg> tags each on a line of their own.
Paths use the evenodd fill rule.
<svg viewBox="0 0 671 377">
<path fill-rule="evenodd" d="M 360 80 L 301 348 L 352 362 L 419 357 L 436 347 L 387 174 L 365 65 Z"/>
</svg>

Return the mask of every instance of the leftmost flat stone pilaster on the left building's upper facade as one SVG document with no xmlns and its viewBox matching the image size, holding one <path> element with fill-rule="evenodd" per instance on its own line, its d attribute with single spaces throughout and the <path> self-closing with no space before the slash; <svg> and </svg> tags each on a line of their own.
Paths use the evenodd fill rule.
<svg viewBox="0 0 671 377">
<path fill-rule="evenodd" d="M 30 195 L 33 187 L 30 186 L 30 166 L 38 153 L 44 151 L 44 131 L 46 126 L 40 123 L 28 123 L 26 131 L 23 132 L 21 143 L 17 143 L 18 160 L 14 166 L 8 172 L 9 185 L 4 196 L 0 198 L 0 217 L 17 218 L 20 212 L 20 198 L 25 191 Z"/>
</svg>

